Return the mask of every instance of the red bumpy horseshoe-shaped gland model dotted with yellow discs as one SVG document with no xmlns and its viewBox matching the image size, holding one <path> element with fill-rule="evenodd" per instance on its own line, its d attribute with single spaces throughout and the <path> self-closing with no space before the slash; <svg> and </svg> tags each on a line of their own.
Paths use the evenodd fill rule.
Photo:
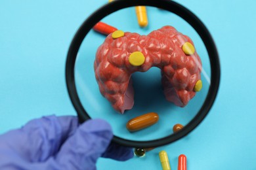
<svg viewBox="0 0 256 170">
<path fill-rule="evenodd" d="M 151 67 L 161 69 L 165 97 L 179 107 L 202 88 L 202 62 L 194 44 L 171 26 L 148 35 L 115 31 L 98 48 L 94 63 L 100 92 L 121 113 L 133 107 L 131 74 Z"/>
</svg>

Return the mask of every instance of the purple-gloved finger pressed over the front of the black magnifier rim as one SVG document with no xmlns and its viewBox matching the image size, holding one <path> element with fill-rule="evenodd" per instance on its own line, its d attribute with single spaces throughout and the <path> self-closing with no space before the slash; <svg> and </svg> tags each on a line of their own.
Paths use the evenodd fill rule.
<svg viewBox="0 0 256 170">
<path fill-rule="evenodd" d="M 88 120 L 78 127 L 56 156 L 60 169 L 96 169 L 96 160 L 108 148 L 113 137 L 104 120 Z"/>
</svg>

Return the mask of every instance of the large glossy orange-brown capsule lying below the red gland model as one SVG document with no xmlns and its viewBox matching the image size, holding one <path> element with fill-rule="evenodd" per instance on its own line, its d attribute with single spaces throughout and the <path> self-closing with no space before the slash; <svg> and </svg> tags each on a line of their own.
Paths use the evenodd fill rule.
<svg viewBox="0 0 256 170">
<path fill-rule="evenodd" d="M 126 124 L 126 128 L 129 131 L 139 131 L 148 126 L 152 126 L 158 122 L 159 116 L 156 112 L 149 112 L 129 120 Z"/>
</svg>

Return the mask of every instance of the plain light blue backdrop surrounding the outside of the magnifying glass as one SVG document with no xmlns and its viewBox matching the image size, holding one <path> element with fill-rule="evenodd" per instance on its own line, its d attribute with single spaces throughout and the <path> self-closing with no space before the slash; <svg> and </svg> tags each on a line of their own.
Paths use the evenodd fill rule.
<svg viewBox="0 0 256 170">
<path fill-rule="evenodd" d="M 64 79 L 66 54 L 77 28 L 104 3 L 0 1 L 0 133 L 43 115 L 75 115 Z M 256 169 L 256 2 L 179 3 L 203 21 L 217 44 L 222 75 L 215 105 L 184 139 L 144 158 L 100 159 L 98 169 L 161 169 L 160 150 L 169 154 L 172 169 L 177 169 L 179 154 L 186 154 L 188 169 Z M 148 10 L 150 29 L 161 24 L 155 18 L 159 12 L 165 14 Z M 134 13 L 126 19 L 122 27 L 139 30 Z"/>
</svg>

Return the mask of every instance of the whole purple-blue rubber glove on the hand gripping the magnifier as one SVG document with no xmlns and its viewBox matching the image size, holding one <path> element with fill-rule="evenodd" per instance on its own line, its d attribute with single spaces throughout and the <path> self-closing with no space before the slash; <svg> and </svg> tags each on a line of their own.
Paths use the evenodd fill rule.
<svg viewBox="0 0 256 170">
<path fill-rule="evenodd" d="M 131 148 L 110 143 L 110 125 L 75 116 L 47 116 L 0 136 L 0 169 L 96 169 L 102 156 L 125 161 Z"/>
</svg>

